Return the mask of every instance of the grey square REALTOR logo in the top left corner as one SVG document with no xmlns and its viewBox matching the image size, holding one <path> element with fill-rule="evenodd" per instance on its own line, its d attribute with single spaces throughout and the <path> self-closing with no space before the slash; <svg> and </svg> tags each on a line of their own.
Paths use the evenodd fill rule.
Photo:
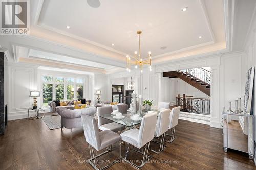
<svg viewBox="0 0 256 170">
<path fill-rule="evenodd" d="M 29 35 L 29 0 L 1 0 L 1 35 Z"/>
</svg>

